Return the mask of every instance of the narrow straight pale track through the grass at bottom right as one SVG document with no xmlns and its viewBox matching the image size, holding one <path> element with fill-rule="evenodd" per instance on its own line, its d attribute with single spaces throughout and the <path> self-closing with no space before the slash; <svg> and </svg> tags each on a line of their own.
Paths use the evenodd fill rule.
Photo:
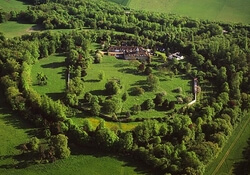
<svg viewBox="0 0 250 175">
<path fill-rule="evenodd" d="M 248 117 L 246 123 L 243 125 L 243 127 L 241 128 L 240 132 L 238 133 L 237 137 L 234 139 L 234 141 L 232 142 L 231 146 L 228 148 L 227 152 L 225 153 L 225 155 L 223 156 L 223 158 L 221 159 L 220 163 L 216 166 L 215 170 L 213 171 L 212 175 L 216 175 L 216 173 L 218 172 L 218 170 L 220 169 L 220 167 L 222 166 L 222 164 L 225 162 L 226 158 L 228 157 L 229 153 L 231 152 L 231 150 L 233 149 L 234 145 L 236 144 L 236 142 L 238 141 L 238 139 L 240 138 L 240 136 L 242 135 L 242 133 L 244 132 L 247 124 L 250 121 L 250 117 Z"/>
</svg>

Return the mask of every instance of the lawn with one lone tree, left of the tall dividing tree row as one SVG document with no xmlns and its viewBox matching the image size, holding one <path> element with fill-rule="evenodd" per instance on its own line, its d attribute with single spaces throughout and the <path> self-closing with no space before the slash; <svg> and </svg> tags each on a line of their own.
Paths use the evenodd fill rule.
<svg viewBox="0 0 250 175">
<path fill-rule="evenodd" d="M 33 88 L 39 94 L 46 94 L 53 99 L 59 99 L 65 92 L 65 56 L 51 55 L 48 58 L 40 59 L 32 66 L 31 78 Z M 37 85 L 36 75 L 43 72 L 48 77 L 48 84 Z"/>
</svg>

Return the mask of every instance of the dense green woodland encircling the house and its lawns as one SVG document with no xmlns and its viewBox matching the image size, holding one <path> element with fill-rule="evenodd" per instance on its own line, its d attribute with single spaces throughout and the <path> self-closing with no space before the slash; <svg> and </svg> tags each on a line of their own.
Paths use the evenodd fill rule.
<svg viewBox="0 0 250 175">
<path fill-rule="evenodd" d="M 0 22 L 34 23 L 44 32 L 16 38 L 1 34 L 0 80 L 11 108 L 42 128 L 44 137 L 51 138 L 50 146 L 44 149 L 37 146 L 39 141 L 31 141 L 30 149 L 38 157 L 49 161 L 68 157 L 68 137 L 69 142 L 83 148 L 134 157 L 162 174 L 203 174 L 250 109 L 249 25 L 130 11 L 106 1 L 25 2 L 30 4 L 26 11 L 0 11 Z M 47 29 L 86 30 L 67 33 Z M 90 43 L 103 44 L 105 49 L 110 44 L 120 45 L 121 41 L 151 48 L 153 52 L 162 51 L 166 56 L 170 52 L 182 52 L 188 63 L 177 61 L 171 70 L 178 69 L 200 82 L 209 82 L 215 89 L 213 94 L 195 105 L 175 110 L 171 116 L 144 120 L 132 131 L 110 130 L 105 127 L 105 121 L 97 128 L 88 120 L 82 126 L 74 124 L 70 117 L 74 115 L 72 109 L 79 107 L 80 98 L 89 103 L 93 115 L 99 115 L 102 110 L 116 115 L 116 105 L 126 100 L 128 94 L 123 99 L 116 96 L 119 82 L 106 84 L 110 94 L 105 101 L 84 91 L 86 69 L 100 59 L 100 54 L 90 49 Z M 58 101 L 32 89 L 30 76 L 33 64 L 54 53 L 67 56 L 65 62 L 71 75 L 65 98 Z M 40 77 L 43 85 L 46 78 Z M 151 108 L 163 101 L 156 98 L 145 103 Z M 140 110 L 140 106 L 134 108 L 134 112 Z"/>
</svg>

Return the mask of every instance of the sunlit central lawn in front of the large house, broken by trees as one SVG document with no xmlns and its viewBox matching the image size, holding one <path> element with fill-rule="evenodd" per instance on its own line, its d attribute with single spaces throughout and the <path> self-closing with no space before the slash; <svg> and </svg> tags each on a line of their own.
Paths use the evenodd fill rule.
<svg viewBox="0 0 250 175">
<path fill-rule="evenodd" d="M 129 65 L 129 61 L 116 59 L 112 56 L 104 56 L 103 61 L 100 64 L 92 64 L 87 69 L 87 76 L 85 77 L 85 92 L 91 92 L 93 95 L 103 95 L 105 89 L 105 83 L 109 79 L 120 79 L 123 86 L 120 96 L 126 92 L 130 91 L 132 87 L 140 86 L 147 87 L 146 75 L 140 75 L 137 73 L 137 68 Z M 153 62 L 155 63 L 155 62 Z M 103 71 L 105 78 L 102 81 L 98 81 L 98 74 Z M 158 71 L 153 72 L 158 75 Z M 159 75 L 158 75 L 159 76 Z M 182 87 L 184 95 L 191 93 L 190 79 L 186 78 L 184 75 L 176 76 L 172 79 L 167 76 L 159 76 L 160 88 L 156 92 L 145 91 L 141 96 L 129 96 L 128 99 L 123 103 L 122 111 L 128 111 L 134 104 L 142 104 L 145 100 L 149 98 L 154 98 L 155 94 L 158 92 L 166 92 L 166 98 L 170 100 L 176 100 L 177 93 L 173 93 L 177 87 Z M 137 117 L 162 117 L 164 116 L 164 111 L 142 111 L 137 115 Z"/>
</svg>

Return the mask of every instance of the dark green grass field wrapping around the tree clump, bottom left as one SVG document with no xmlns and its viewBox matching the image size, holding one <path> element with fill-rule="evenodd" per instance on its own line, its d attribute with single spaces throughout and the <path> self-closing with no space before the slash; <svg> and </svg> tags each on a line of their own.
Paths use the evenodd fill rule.
<svg viewBox="0 0 250 175">
<path fill-rule="evenodd" d="M 1 94 L 2 95 L 2 94 Z M 136 175 L 147 173 L 140 163 L 112 157 L 95 150 L 71 147 L 68 159 L 52 164 L 34 164 L 20 167 L 24 162 L 16 147 L 36 136 L 36 129 L 6 107 L 0 98 L 0 174 L 1 175 Z"/>
</svg>

